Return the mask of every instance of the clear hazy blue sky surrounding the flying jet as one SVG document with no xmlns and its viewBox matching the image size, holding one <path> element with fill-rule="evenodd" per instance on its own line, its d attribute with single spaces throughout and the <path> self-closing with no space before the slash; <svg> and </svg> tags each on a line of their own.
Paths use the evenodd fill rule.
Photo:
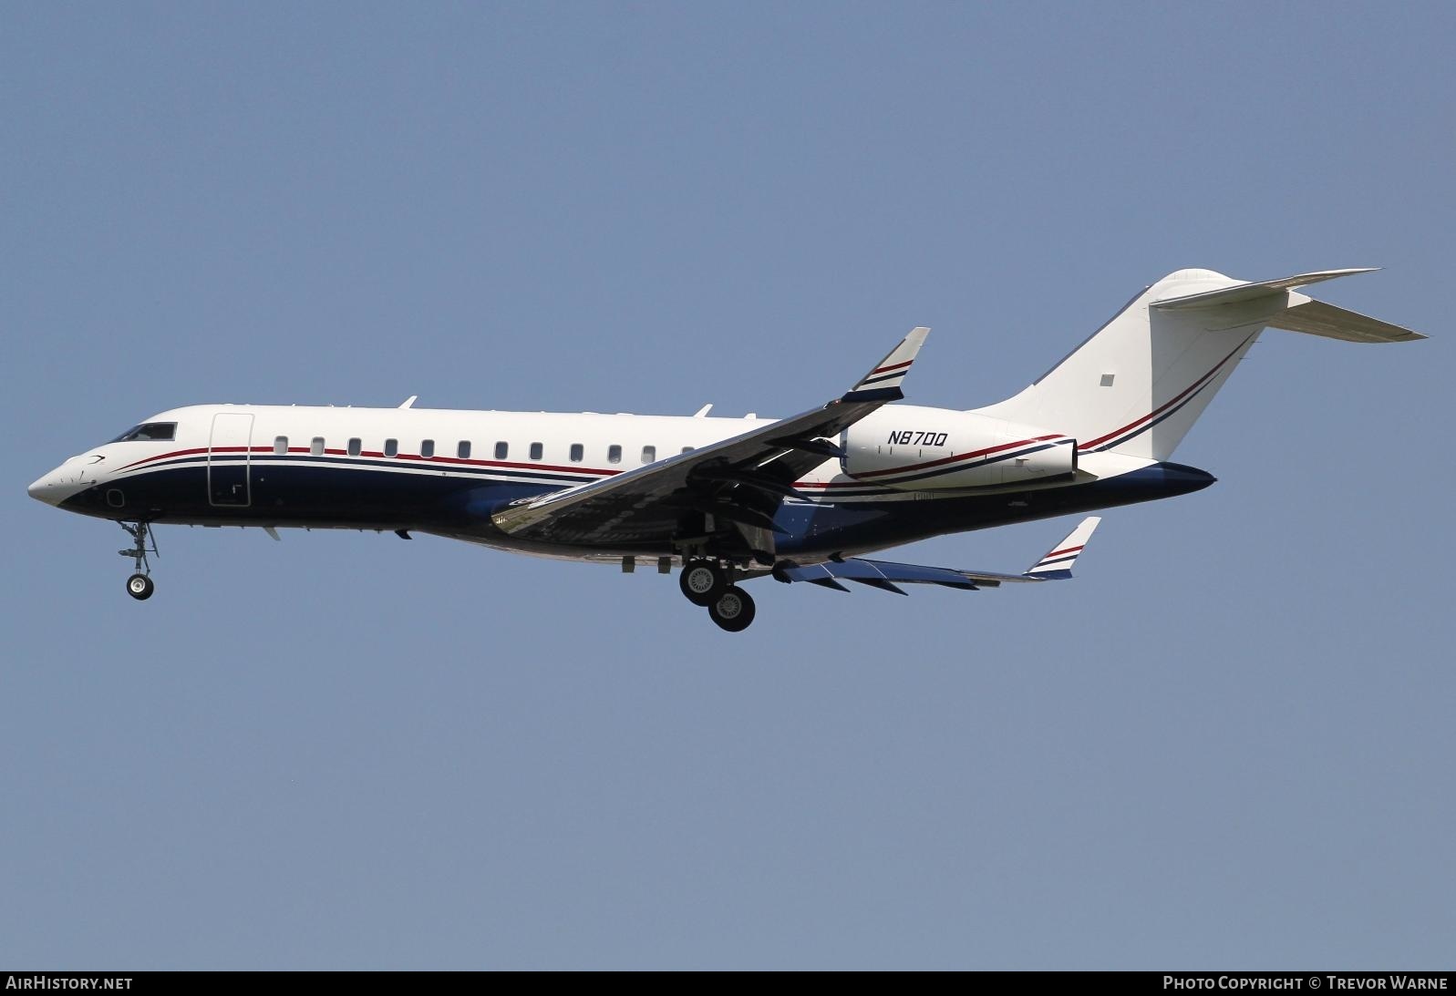
<svg viewBox="0 0 1456 996">
<path fill-rule="evenodd" d="M 1450 967 L 1444 4 L 26 4 L 0 963 Z M 125 540 L 25 485 L 192 402 L 788 415 L 910 326 L 1005 398 L 1184 266 L 1268 332 L 1035 590 L 422 537 Z M 942 537 L 1019 569 L 1070 521 Z"/>
</svg>

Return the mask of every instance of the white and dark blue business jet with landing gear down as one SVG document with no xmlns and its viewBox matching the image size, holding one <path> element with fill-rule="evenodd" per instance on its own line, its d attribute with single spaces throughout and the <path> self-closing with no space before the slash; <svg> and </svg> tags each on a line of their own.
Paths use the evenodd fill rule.
<svg viewBox="0 0 1456 996">
<path fill-rule="evenodd" d="M 1169 463 L 1264 328 L 1350 342 L 1425 336 L 1297 288 L 1369 272 L 1239 281 L 1181 269 L 1134 297 L 1019 395 L 955 411 L 900 405 L 929 329 L 859 383 L 780 421 L 414 408 L 194 405 L 71 457 L 32 497 L 118 521 L 134 598 L 153 593 L 159 524 L 431 533 L 517 553 L 680 568 L 683 594 L 737 632 L 744 581 L 974 591 L 1072 577 L 1082 523 L 1022 574 L 865 559 L 913 540 L 1207 488 Z"/>
</svg>

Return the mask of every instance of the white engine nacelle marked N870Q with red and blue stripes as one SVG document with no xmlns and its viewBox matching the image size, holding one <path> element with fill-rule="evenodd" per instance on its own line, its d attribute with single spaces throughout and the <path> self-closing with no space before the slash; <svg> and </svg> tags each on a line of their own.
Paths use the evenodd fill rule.
<svg viewBox="0 0 1456 996">
<path fill-rule="evenodd" d="M 843 469 L 906 491 L 1032 483 L 1076 473 L 1077 441 L 976 412 L 887 405 L 844 431 Z"/>
</svg>

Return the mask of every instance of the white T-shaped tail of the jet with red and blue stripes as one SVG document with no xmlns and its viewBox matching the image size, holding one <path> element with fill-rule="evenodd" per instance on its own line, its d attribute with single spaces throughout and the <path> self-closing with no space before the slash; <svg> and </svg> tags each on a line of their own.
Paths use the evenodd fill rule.
<svg viewBox="0 0 1456 996">
<path fill-rule="evenodd" d="M 1166 460 L 1265 326 L 1351 342 L 1424 339 L 1291 290 L 1360 272 L 1248 282 L 1179 269 L 1024 392 L 978 411 L 1073 435 L 1080 453 Z"/>
</svg>

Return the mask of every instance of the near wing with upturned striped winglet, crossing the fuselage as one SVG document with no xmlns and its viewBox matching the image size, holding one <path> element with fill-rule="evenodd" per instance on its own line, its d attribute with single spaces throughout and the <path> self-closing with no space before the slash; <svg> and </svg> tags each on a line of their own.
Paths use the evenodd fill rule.
<svg viewBox="0 0 1456 996">
<path fill-rule="evenodd" d="M 772 533 L 773 513 L 795 495 L 794 482 L 843 456 L 833 438 L 904 398 L 900 384 L 929 331 L 911 329 L 859 383 L 823 408 L 614 478 L 524 498 L 491 518 L 521 539 L 628 548 L 671 539 L 684 515 L 699 513 Z"/>
</svg>

